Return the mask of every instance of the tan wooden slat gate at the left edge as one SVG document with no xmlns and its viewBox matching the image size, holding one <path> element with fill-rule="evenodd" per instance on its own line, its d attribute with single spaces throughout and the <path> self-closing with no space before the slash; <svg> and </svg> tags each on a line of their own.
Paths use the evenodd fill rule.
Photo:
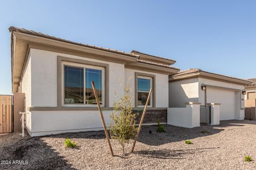
<svg viewBox="0 0 256 170">
<path fill-rule="evenodd" d="M 13 96 L 0 95 L 0 133 L 13 132 Z"/>
</svg>

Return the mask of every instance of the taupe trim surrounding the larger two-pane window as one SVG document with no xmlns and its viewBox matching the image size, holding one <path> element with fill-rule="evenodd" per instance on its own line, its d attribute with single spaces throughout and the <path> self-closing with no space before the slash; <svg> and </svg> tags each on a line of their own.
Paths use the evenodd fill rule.
<svg viewBox="0 0 256 170">
<path fill-rule="evenodd" d="M 69 58 L 69 57 L 62 57 L 57 56 L 57 77 L 58 77 L 58 107 L 97 107 L 97 105 L 93 106 L 87 106 L 87 105 L 81 105 L 81 106 L 64 106 L 62 105 L 62 86 L 64 86 L 62 82 L 62 62 L 70 62 L 70 63 L 77 63 L 77 64 L 84 64 L 84 65 L 92 65 L 92 66 L 99 66 L 99 67 L 105 67 L 105 77 L 104 77 L 104 83 L 102 81 L 102 86 L 105 86 L 104 89 L 104 105 L 102 107 L 109 107 L 109 65 L 105 63 L 98 63 L 98 62 L 92 62 L 92 61 L 86 61 L 86 60 L 80 60 L 76 58 Z"/>
</svg>

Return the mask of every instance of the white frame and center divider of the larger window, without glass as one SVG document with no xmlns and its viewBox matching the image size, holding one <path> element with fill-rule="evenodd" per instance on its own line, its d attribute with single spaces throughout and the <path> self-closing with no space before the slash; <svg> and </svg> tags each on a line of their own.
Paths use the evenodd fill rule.
<svg viewBox="0 0 256 170">
<path fill-rule="evenodd" d="M 70 67 L 79 67 L 83 68 L 84 71 L 84 103 L 83 104 L 65 104 L 65 73 L 64 73 L 64 66 L 70 66 Z M 73 63 L 73 62 L 61 62 L 61 105 L 62 107 L 96 107 L 97 104 L 85 104 L 85 69 L 95 69 L 95 70 L 101 70 L 101 93 L 102 93 L 102 104 L 101 107 L 105 106 L 105 67 L 101 66 L 94 66 L 94 65 L 87 65 L 87 64 L 79 64 L 79 63 Z"/>
</svg>

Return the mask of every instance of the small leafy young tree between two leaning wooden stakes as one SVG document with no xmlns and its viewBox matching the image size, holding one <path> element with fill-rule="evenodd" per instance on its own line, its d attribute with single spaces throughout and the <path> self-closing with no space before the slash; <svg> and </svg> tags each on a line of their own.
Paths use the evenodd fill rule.
<svg viewBox="0 0 256 170">
<path fill-rule="evenodd" d="M 138 116 L 138 113 L 132 113 L 133 97 L 131 87 L 128 84 L 123 87 L 120 80 L 119 83 L 124 90 L 124 95 L 119 101 L 114 102 L 114 112 L 110 115 L 113 123 L 109 125 L 109 131 L 111 138 L 118 140 L 121 144 L 124 155 L 125 144 L 129 143 L 129 140 L 132 139 L 137 132 L 135 118 Z"/>
</svg>

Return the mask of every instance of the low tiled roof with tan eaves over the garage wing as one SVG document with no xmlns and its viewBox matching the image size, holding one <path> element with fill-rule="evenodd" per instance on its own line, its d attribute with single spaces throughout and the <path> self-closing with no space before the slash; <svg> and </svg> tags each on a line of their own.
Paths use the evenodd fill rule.
<svg viewBox="0 0 256 170">
<path fill-rule="evenodd" d="M 180 71 L 177 74 L 170 75 L 169 81 L 189 79 L 189 78 L 194 78 L 194 77 L 201 77 L 201 78 L 212 79 L 212 80 L 216 80 L 216 81 L 229 82 L 229 83 L 233 83 L 233 84 L 241 84 L 243 86 L 245 86 L 246 84 L 252 83 L 249 80 L 238 79 L 238 78 L 234 78 L 234 77 L 229 77 L 227 75 L 206 72 L 201 69 L 188 69 L 188 70 Z"/>
</svg>

